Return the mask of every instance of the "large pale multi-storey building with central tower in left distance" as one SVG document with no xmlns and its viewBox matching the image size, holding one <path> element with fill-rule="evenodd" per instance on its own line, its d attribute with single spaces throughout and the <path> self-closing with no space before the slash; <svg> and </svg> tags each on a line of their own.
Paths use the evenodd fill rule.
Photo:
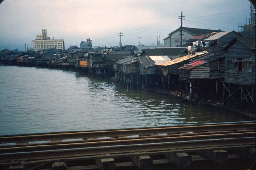
<svg viewBox="0 0 256 170">
<path fill-rule="evenodd" d="M 50 39 L 47 37 L 47 30 L 42 30 L 42 34 L 37 35 L 35 40 L 32 40 L 32 49 L 44 50 L 49 48 L 65 49 L 63 39 Z"/>
</svg>

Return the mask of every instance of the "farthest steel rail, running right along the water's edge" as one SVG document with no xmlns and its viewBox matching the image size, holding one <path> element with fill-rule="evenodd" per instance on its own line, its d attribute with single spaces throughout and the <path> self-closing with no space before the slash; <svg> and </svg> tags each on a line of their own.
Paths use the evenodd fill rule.
<svg viewBox="0 0 256 170">
<path fill-rule="evenodd" d="M 194 124 L 194 125 L 176 125 L 152 128 L 132 128 L 132 129 L 114 129 L 98 131 L 75 131 L 60 133 L 39 133 L 24 135 L 5 135 L 0 136 L 0 143 L 22 143 L 33 141 L 49 141 L 78 138 L 95 137 L 116 137 L 129 135 L 150 135 L 161 133 L 182 133 L 182 132 L 200 132 L 200 131 L 223 131 L 237 129 L 255 129 L 255 121 L 231 122 L 231 123 L 212 123 L 212 124 Z"/>
</svg>

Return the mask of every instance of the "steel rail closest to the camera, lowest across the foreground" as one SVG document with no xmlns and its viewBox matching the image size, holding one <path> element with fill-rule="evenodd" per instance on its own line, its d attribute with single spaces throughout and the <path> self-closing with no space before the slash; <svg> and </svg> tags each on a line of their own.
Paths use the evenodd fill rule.
<svg viewBox="0 0 256 170">
<path fill-rule="evenodd" d="M 134 144 L 134 145 L 116 145 L 116 146 L 99 146 L 85 147 L 74 149 L 57 149 L 33 152 L 17 152 L 17 153 L 1 153 L 0 163 L 14 160 L 35 160 L 35 159 L 54 159 L 64 157 L 92 156 L 102 154 L 122 154 L 134 152 L 154 152 L 166 151 L 171 149 L 189 149 L 201 147 L 221 147 L 221 146 L 237 146 L 237 145 L 254 145 L 255 137 L 246 138 L 224 138 L 209 140 L 189 140 L 177 142 L 161 142 L 150 144 Z"/>
</svg>

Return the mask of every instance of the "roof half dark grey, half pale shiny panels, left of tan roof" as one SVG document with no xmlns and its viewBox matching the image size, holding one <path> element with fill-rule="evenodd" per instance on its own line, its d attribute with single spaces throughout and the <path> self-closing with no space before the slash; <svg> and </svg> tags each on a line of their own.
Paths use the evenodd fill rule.
<svg viewBox="0 0 256 170">
<path fill-rule="evenodd" d="M 171 61 L 168 56 L 162 55 L 162 56 L 140 56 L 138 57 L 138 60 L 140 63 L 143 64 L 144 67 L 150 67 L 150 66 L 155 66 L 164 62 Z"/>
</svg>

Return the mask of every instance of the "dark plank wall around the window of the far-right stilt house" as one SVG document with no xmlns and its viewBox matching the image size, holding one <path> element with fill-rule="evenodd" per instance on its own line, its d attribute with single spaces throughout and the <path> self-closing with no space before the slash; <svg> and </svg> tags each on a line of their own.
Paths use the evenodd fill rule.
<svg viewBox="0 0 256 170">
<path fill-rule="evenodd" d="M 251 58 L 255 60 L 255 53 L 247 46 L 244 46 L 238 40 L 229 45 L 225 51 L 225 82 L 242 84 L 242 85 L 255 85 L 255 61 L 252 62 L 252 72 L 249 71 L 235 71 L 228 70 L 228 61 L 237 61 L 238 58 Z"/>
</svg>

